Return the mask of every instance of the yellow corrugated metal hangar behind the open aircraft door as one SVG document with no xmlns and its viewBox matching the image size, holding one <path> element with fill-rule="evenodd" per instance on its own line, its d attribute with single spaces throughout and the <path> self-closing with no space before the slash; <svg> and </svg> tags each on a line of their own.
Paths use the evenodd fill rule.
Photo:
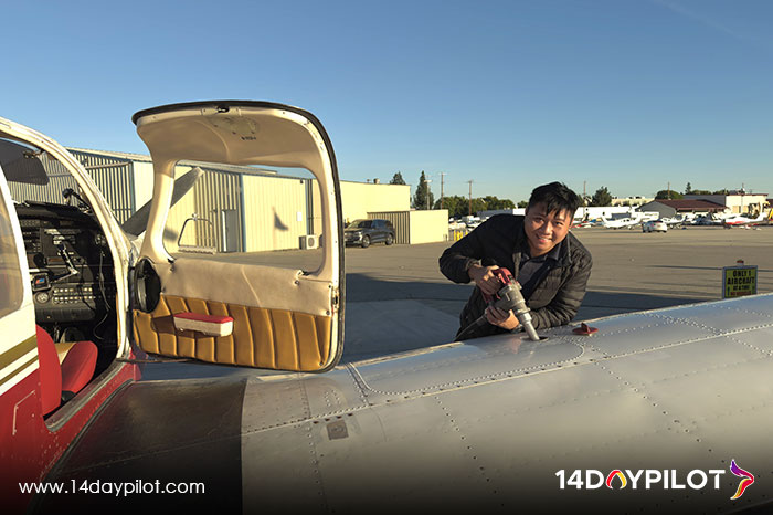
<svg viewBox="0 0 773 515">
<path fill-rule="evenodd" d="M 152 196 L 149 156 L 68 148 L 91 174 L 120 223 Z M 57 162 L 47 161 L 55 169 Z M 319 188 L 304 169 L 269 170 L 222 164 L 181 161 L 180 177 L 199 167 L 195 186 L 174 204 L 167 220 L 167 249 L 215 252 L 260 252 L 315 248 L 321 230 Z M 64 188 L 76 185 L 64 172 L 53 174 L 45 196 L 19 198 L 61 201 Z M 40 196 L 40 193 L 38 193 Z M 341 181 L 343 220 L 386 218 L 398 243 L 424 243 L 448 238 L 447 210 L 411 211 L 410 186 Z"/>
</svg>

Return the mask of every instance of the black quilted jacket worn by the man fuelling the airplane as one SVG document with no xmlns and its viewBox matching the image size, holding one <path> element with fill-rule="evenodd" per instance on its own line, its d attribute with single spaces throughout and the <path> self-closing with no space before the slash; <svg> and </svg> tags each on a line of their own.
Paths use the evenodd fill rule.
<svg viewBox="0 0 773 515">
<path fill-rule="evenodd" d="M 523 217 L 497 214 L 457 241 L 441 255 L 441 272 L 455 283 L 469 283 L 467 269 L 473 263 L 508 269 L 518 278 L 521 254 L 529 250 L 523 231 Z M 527 305 L 534 328 L 569 324 L 574 318 L 585 285 L 591 276 L 591 253 L 570 232 L 561 242 L 559 261 L 534 287 Z M 460 329 L 475 322 L 486 309 L 477 287 L 459 315 Z M 459 329 L 459 330 L 460 330 Z M 473 337 L 507 333 L 501 327 L 486 325 Z"/>
</svg>

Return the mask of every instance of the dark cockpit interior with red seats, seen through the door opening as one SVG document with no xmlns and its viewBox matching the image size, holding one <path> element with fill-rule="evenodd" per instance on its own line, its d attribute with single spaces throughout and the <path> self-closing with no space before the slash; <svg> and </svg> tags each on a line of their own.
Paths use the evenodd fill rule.
<svg viewBox="0 0 773 515">
<path fill-rule="evenodd" d="M 81 354 L 82 348 L 73 349 L 91 341 L 96 362 L 93 371 L 91 365 L 85 372 L 78 366 L 80 376 L 89 376 L 80 381 L 83 388 L 109 367 L 118 346 L 114 259 L 105 232 L 75 179 L 49 154 L 0 138 L 0 166 L 24 242 L 41 374 L 41 330 L 53 341 L 65 372 L 67 355 Z M 86 354 L 94 361 L 94 353 Z M 74 393 L 63 391 L 54 409 Z"/>
</svg>

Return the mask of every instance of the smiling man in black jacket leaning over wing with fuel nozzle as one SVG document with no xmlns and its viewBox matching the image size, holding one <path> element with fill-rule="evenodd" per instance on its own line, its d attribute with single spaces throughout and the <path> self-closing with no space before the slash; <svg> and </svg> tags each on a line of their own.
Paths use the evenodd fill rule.
<svg viewBox="0 0 773 515">
<path fill-rule="evenodd" d="M 484 313 L 489 325 L 472 338 L 518 328 L 512 312 L 486 305 L 481 292 L 500 287 L 493 273 L 508 269 L 518 280 L 531 309 L 534 328 L 568 324 L 576 315 L 591 276 L 591 253 L 569 232 L 580 197 L 561 182 L 531 192 L 526 217 L 498 214 L 443 252 L 441 272 L 455 283 L 475 282 L 457 335 Z"/>
</svg>

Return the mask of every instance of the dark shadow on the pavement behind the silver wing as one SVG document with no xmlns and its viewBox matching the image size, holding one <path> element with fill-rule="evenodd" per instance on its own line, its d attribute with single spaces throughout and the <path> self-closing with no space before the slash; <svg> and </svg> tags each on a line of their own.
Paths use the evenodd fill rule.
<svg viewBox="0 0 773 515">
<path fill-rule="evenodd" d="M 452 343 L 458 329 L 458 314 L 472 287 L 451 282 L 388 281 L 348 274 L 341 364 Z M 705 301 L 591 291 L 585 294 L 575 320 Z M 142 368 L 145 380 L 276 374 L 198 361 L 159 362 Z"/>
</svg>

